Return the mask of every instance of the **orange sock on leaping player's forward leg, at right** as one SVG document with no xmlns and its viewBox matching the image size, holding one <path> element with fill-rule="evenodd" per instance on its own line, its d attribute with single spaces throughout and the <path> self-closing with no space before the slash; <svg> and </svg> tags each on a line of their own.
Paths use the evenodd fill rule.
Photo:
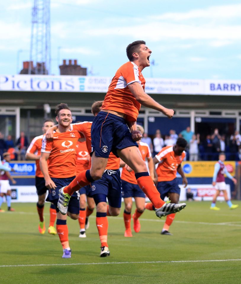
<svg viewBox="0 0 241 284">
<path fill-rule="evenodd" d="M 155 187 L 155 184 L 150 176 L 141 176 L 136 180 L 141 190 L 147 195 L 155 208 L 160 208 L 163 206 L 163 204 L 165 204 L 165 201 L 160 198 L 160 193 Z"/>
</svg>

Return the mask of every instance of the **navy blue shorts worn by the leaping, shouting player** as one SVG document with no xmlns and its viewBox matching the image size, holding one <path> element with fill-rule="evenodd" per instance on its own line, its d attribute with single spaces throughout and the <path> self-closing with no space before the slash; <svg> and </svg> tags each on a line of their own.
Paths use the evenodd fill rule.
<svg viewBox="0 0 241 284">
<path fill-rule="evenodd" d="M 108 158 L 110 152 L 116 157 L 117 149 L 137 146 L 124 118 L 100 111 L 91 126 L 91 147 L 97 157 Z"/>
</svg>

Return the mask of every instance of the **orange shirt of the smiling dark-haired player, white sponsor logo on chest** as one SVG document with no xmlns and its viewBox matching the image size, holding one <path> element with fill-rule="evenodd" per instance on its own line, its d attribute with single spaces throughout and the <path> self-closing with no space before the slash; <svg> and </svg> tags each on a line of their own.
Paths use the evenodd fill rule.
<svg viewBox="0 0 241 284">
<path fill-rule="evenodd" d="M 67 178 L 76 175 L 76 144 L 81 135 L 78 131 L 54 132 L 53 140 L 45 135 L 42 140 L 41 152 L 49 155 L 49 176 Z"/>
</svg>

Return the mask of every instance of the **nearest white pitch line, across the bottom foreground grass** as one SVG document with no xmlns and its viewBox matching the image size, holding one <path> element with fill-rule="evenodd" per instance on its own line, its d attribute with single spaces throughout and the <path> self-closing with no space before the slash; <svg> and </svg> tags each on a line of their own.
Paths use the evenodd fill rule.
<svg viewBox="0 0 241 284">
<path fill-rule="evenodd" d="M 123 261 L 123 262 L 92 262 L 92 263 L 63 263 L 63 264 L 19 264 L 0 265 L 0 267 L 29 267 L 29 266 L 61 266 L 61 265 L 99 265 L 99 264 L 155 264 L 155 263 L 187 263 L 187 262 L 221 262 L 221 261 L 241 261 L 241 259 L 212 259 L 212 260 L 172 260 L 172 261 Z"/>
</svg>

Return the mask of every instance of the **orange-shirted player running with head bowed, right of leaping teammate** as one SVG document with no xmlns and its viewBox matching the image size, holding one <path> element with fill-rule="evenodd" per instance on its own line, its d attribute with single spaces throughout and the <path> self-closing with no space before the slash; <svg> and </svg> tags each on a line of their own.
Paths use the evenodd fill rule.
<svg viewBox="0 0 241 284">
<path fill-rule="evenodd" d="M 180 187 L 178 186 L 176 173 L 182 177 L 184 187 L 187 186 L 187 179 L 181 168 L 181 162 L 185 158 L 185 147 L 187 141 L 183 138 L 178 138 L 174 146 L 166 146 L 153 158 L 154 163 L 158 163 L 157 175 L 158 185 L 157 190 L 160 192 L 161 199 L 168 197 L 173 203 L 179 202 Z M 152 203 L 146 203 L 146 209 L 154 210 Z M 172 235 L 168 230 L 175 218 L 175 213 L 166 217 L 166 222 L 163 226 L 162 235 Z"/>
</svg>

